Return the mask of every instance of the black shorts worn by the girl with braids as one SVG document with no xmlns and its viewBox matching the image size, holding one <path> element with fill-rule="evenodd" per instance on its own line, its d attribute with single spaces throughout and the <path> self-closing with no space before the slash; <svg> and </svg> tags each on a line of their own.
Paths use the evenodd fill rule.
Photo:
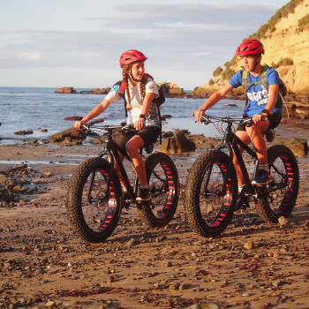
<svg viewBox="0 0 309 309">
<path fill-rule="evenodd" d="M 125 151 L 125 144 L 132 139 L 134 135 L 139 135 L 143 140 L 145 145 L 153 144 L 156 142 L 160 135 L 160 129 L 155 125 L 143 126 L 139 131 L 136 131 L 133 126 L 128 126 L 117 136 L 115 139 L 117 145 L 120 149 Z"/>
</svg>

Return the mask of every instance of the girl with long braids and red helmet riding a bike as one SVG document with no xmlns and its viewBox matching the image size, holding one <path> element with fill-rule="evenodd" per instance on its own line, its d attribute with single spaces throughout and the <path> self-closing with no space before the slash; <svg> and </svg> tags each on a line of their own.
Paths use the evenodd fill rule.
<svg viewBox="0 0 309 309">
<path fill-rule="evenodd" d="M 125 86 L 124 101 L 127 110 L 127 125 L 117 139 L 117 145 L 122 159 L 124 155 L 121 155 L 121 152 L 126 151 L 130 156 L 133 168 L 139 177 L 140 187 L 137 201 L 151 199 L 145 163 L 139 154 L 139 149 L 145 144 L 155 143 L 160 134 L 160 119 L 154 102 L 154 99 L 159 96 L 158 88 L 155 80 L 145 73 L 144 62 L 146 60 L 147 57 L 136 49 L 125 51 L 119 59 Z M 101 103 L 91 110 L 86 117 L 74 124 L 75 128 L 80 129 L 82 124 L 87 124 L 89 120 L 102 114 L 109 107 L 109 104 L 119 102 L 122 99 L 120 83 L 117 83 Z M 120 181 L 122 182 L 121 177 Z"/>
</svg>

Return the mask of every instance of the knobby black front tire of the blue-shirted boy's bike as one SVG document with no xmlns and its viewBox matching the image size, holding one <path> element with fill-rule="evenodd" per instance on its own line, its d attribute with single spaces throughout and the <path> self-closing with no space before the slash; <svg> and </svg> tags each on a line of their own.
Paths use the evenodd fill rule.
<svg viewBox="0 0 309 309">
<path fill-rule="evenodd" d="M 221 150 L 209 151 L 198 157 L 193 163 L 192 169 L 187 177 L 185 185 L 185 213 L 192 230 L 200 235 L 200 237 L 219 236 L 232 220 L 237 199 L 237 176 L 234 165 L 230 168 L 229 182 L 226 185 L 226 189 L 224 189 L 226 193 L 222 192 L 223 177 L 228 167 L 229 160 L 229 156 Z M 215 189 L 214 181 L 213 190 L 217 190 L 217 193 L 221 192 L 221 194 L 219 194 L 221 197 L 215 199 L 214 196 L 213 198 L 209 198 L 209 201 L 207 200 L 209 204 L 205 205 L 206 207 L 213 207 L 212 205 L 214 205 L 216 201 L 219 208 L 217 212 L 214 212 L 214 218 L 211 218 L 210 222 L 207 222 L 208 218 L 204 218 L 200 208 L 200 199 L 202 198 L 201 186 L 207 171 L 210 169 L 209 177 L 212 175 L 215 177 L 213 170 L 214 166 L 215 169 L 218 169 L 218 174 L 221 175 L 218 178 L 218 183 L 216 185 L 217 189 Z M 211 186 L 209 186 L 209 189 L 211 189 Z M 211 203 L 212 200 L 213 203 Z M 209 211 L 208 214 L 211 214 L 211 211 Z"/>
</svg>

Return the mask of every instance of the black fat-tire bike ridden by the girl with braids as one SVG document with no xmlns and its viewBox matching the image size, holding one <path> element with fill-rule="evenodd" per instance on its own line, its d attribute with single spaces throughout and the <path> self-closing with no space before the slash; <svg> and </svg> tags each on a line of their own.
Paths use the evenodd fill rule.
<svg viewBox="0 0 309 309">
<path fill-rule="evenodd" d="M 102 152 L 81 162 L 74 171 L 67 194 L 66 209 L 72 230 L 88 243 L 102 243 L 116 229 L 122 209 L 134 205 L 142 221 L 150 228 L 161 228 L 173 219 L 178 203 L 179 180 L 175 163 L 169 155 L 155 152 L 145 159 L 151 200 L 137 202 L 139 178 L 132 185 L 112 139 L 120 125 L 84 125 L 87 132 L 102 140 Z M 105 140 L 104 140 L 105 139 Z M 150 154 L 153 144 L 144 149 Z M 140 153 L 142 154 L 142 150 Z M 129 161 L 130 157 L 123 154 Z M 123 192 L 115 163 L 124 180 Z"/>
</svg>

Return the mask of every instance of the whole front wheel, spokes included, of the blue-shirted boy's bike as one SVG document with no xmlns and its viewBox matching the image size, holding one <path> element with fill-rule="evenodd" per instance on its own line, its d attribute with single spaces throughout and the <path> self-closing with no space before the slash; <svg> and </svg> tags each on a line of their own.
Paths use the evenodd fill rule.
<svg viewBox="0 0 309 309">
<path fill-rule="evenodd" d="M 222 151 L 207 152 L 193 163 L 187 178 L 185 212 L 201 237 L 219 236 L 233 217 L 237 176 L 234 165 L 226 175 L 228 163 L 229 156 Z"/>
</svg>

